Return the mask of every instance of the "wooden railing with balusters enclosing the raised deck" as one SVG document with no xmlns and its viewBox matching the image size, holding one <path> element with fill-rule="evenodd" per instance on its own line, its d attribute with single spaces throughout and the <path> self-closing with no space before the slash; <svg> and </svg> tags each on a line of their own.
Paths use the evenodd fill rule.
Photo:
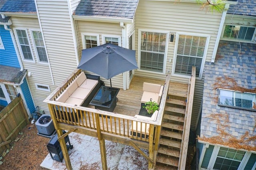
<svg viewBox="0 0 256 170">
<path fill-rule="evenodd" d="M 44 102 L 48 103 L 52 119 L 56 121 L 54 125 L 56 129 L 64 129 L 66 125 L 74 125 L 77 128 L 90 129 L 88 132 L 84 131 L 83 134 L 90 136 L 97 136 L 97 125 L 100 125 L 100 131 L 109 134 L 115 134 L 118 136 L 125 136 L 137 140 L 149 142 L 152 137 L 152 142 L 159 141 L 160 126 L 163 117 L 164 106 L 166 102 L 166 96 L 168 93 L 170 75 L 166 78 L 164 85 L 164 91 L 160 102 L 160 110 L 158 117 L 155 121 L 144 120 L 128 115 L 122 115 L 118 113 L 111 113 L 107 111 L 101 111 L 98 109 L 91 109 L 88 107 L 71 105 L 68 103 L 61 103 L 55 101 L 60 94 L 76 79 L 81 73 L 80 69 L 76 69 L 54 92 L 49 95 Z M 134 114 L 136 115 L 136 113 Z M 134 129 L 134 123 L 136 124 L 136 130 L 131 133 L 130 128 Z M 63 125 L 66 124 L 66 125 Z M 153 130 L 154 129 L 154 130 Z M 158 147 L 158 144 L 157 146 Z"/>
</svg>

